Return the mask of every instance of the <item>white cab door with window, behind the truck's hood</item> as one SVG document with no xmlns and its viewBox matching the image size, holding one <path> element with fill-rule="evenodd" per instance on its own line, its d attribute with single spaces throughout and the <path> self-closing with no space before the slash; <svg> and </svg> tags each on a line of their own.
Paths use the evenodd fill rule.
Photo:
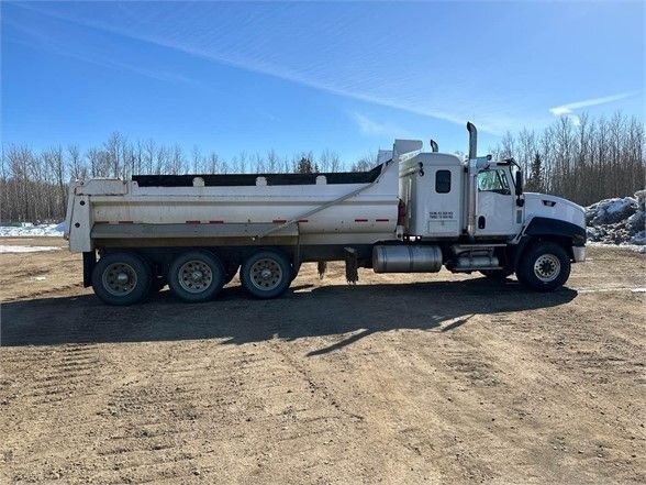
<svg viewBox="0 0 646 485">
<path fill-rule="evenodd" d="M 476 235 L 514 233 L 514 196 L 508 170 L 492 167 L 476 178 Z"/>
</svg>

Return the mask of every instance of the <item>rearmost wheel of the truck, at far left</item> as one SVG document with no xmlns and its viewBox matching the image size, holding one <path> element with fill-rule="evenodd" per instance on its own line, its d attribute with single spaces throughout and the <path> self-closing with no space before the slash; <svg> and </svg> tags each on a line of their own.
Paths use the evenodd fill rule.
<svg viewBox="0 0 646 485">
<path fill-rule="evenodd" d="M 94 294 L 108 305 L 126 306 L 151 291 L 151 268 L 134 253 L 108 253 L 92 271 Z"/>
</svg>

